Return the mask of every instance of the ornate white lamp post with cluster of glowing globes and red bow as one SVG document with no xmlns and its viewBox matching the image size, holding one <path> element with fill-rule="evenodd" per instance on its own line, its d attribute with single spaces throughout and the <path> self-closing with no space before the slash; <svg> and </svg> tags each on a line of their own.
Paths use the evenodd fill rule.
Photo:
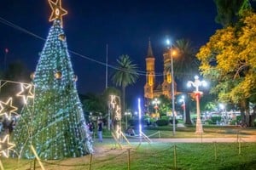
<svg viewBox="0 0 256 170">
<path fill-rule="evenodd" d="M 200 81 L 198 76 L 195 76 L 195 82 L 188 82 L 188 87 L 195 87 L 195 99 L 196 99 L 196 131 L 195 133 L 203 133 L 203 128 L 201 125 L 201 113 L 200 113 L 200 96 L 202 94 L 201 91 L 199 91 L 199 87 L 201 86 L 206 86 L 207 82 L 205 81 Z"/>
</svg>

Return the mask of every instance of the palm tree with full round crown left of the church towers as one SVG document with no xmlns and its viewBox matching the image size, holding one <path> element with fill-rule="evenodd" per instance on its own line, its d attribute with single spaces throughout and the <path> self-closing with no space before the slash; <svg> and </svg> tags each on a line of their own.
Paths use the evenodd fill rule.
<svg viewBox="0 0 256 170">
<path fill-rule="evenodd" d="M 137 65 L 133 64 L 128 55 L 121 55 L 117 59 L 118 66 L 113 74 L 112 81 L 115 85 L 122 88 L 122 108 L 121 111 L 125 112 L 125 88 L 128 85 L 134 84 L 137 81 Z"/>
</svg>

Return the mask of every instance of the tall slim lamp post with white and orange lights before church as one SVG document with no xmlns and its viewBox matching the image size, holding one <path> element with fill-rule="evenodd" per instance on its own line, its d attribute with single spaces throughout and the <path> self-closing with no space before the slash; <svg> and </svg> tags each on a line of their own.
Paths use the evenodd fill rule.
<svg viewBox="0 0 256 170">
<path fill-rule="evenodd" d="M 175 51 L 172 51 L 172 44 L 170 40 L 166 40 L 167 45 L 170 48 L 171 56 L 171 75 L 172 75 L 172 135 L 175 135 L 175 103 L 174 103 L 174 77 L 173 77 L 173 54 Z"/>
</svg>

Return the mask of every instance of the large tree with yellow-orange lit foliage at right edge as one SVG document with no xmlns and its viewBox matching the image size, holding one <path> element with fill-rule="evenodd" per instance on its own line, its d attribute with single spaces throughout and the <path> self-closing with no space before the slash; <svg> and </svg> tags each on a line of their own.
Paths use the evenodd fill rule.
<svg viewBox="0 0 256 170">
<path fill-rule="evenodd" d="M 197 57 L 203 75 L 212 80 L 211 93 L 239 105 L 242 122 L 249 125 L 248 103 L 255 105 L 256 95 L 256 14 L 245 14 L 236 26 L 216 31 Z"/>
</svg>

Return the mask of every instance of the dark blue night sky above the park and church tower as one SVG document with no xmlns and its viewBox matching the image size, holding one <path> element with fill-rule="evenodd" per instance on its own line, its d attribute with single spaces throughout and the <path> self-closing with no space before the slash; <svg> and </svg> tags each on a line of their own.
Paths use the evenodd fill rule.
<svg viewBox="0 0 256 170">
<path fill-rule="evenodd" d="M 221 26 L 214 18 L 217 14 L 213 0 L 161 0 L 161 1 L 73 1 L 62 0 L 68 14 L 63 17 L 73 69 L 78 75 L 79 93 L 101 94 L 105 88 L 106 46 L 108 64 L 116 65 L 121 54 L 128 54 L 140 71 L 145 71 L 145 57 L 150 37 L 156 59 L 156 72 L 162 72 L 162 53 L 166 37 L 173 41 L 188 38 L 200 48 Z M 44 47 L 49 33 L 51 13 L 47 0 L 5 0 L 0 7 L 0 65 L 3 68 L 4 49 L 9 48 L 7 63 L 20 59 L 34 71 L 38 53 Z M 7 20 L 29 31 L 3 24 Z M 32 34 L 38 37 L 32 36 Z M 82 57 L 84 56 L 84 57 Z M 90 59 L 88 59 L 90 58 Z M 108 86 L 113 69 L 108 69 Z M 162 78 L 160 78 L 162 79 Z M 127 88 L 128 98 L 143 97 L 145 76 Z"/>
</svg>

